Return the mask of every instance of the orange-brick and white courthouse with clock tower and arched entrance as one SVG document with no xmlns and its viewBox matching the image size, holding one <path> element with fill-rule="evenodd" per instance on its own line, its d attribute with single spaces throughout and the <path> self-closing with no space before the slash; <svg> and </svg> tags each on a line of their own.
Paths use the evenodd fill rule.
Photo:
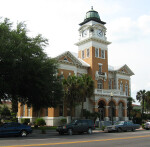
<svg viewBox="0 0 150 147">
<path fill-rule="evenodd" d="M 70 75 L 88 74 L 95 83 L 94 96 L 86 99 L 84 109 L 90 112 L 100 112 L 102 121 L 128 120 L 127 98 L 131 96 L 131 76 L 134 73 L 126 65 L 108 65 L 108 45 L 105 27 L 106 22 L 100 19 L 93 8 L 86 13 L 85 19 L 79 25 L 78 53 L 65 51 L 58 55 L 59 74 L 67 78 Z M 119 64 L 119 63 L 118 63 Z M 113 113 L 112 113 L 113 112 Z M 75 109 L 74 117 L 79 118 L 81 106 Z M 67 117 L 67 108 L 63 105 L 57 108 L 43 109 L 41 117 L 47 125 L 58 125 L 60 119 Z M 32 108 L 20 105 L 18 119 L 35 120 Z"/>
</svg>

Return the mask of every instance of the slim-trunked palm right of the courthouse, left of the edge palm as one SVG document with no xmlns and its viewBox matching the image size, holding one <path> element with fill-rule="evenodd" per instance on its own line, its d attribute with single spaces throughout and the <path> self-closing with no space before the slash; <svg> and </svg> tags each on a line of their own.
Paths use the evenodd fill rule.
<svg viewBox="0 0 150 147">
<path fill-rule="evenodd" d="M 144 103 L 147 100 L 147 92 L 146 90 L 140 90 L 136 94 L 136 99 L 141 103 L 142 105 L 142 115 L 141 118 L 143 119 L 143 114 L 144 114 Z"/>
</svg>

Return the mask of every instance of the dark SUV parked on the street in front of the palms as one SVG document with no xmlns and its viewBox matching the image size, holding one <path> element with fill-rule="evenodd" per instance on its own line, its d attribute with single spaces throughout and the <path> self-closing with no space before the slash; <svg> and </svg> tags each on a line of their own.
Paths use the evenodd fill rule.
<svg viewBox="0 0 150 147">
<path fill-rule="evenodd" d="M 95 124 L 93 120 L 74 120 L 72 123 L 58 126 L 56 131 L 59 132 L 60 135 L 64 133 L 68 133 L 72 135 L 73 133 L 84 133 L 92 134 L 92 130 L 95 129 Z"/>
</svg>

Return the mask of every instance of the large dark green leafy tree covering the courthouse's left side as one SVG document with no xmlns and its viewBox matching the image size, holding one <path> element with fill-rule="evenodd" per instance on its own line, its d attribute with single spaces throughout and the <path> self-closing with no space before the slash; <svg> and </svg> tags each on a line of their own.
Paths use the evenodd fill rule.
<svg viewBox="0 0 150 147">
<path fill-rule="evenodd" d="M 8 19 L 1 19 L 0 99 L 26 103 L 35 111 L 57 105 L 62 84 L 54 76 L 57 62 L 44 53 L 47 44 L 41 35 L 29 37 L 24 23 L 15 28 Z"/>
</svg>

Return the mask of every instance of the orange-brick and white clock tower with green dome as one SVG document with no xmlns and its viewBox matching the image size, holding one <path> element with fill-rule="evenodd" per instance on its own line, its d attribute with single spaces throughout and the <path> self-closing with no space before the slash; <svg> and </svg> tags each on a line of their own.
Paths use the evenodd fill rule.
<svg viewBox="0 0 150 147">
<path fill-rule="evenodd" d="M 76 43 L 78 57 L 90 65 L 88 73 L 95 82 L 95 88 L 98 88 L 98 82 L 102 83 L 100 89 L 108 89 L 107 46 L 111 42 L 107 41 L 105 24 L 92 7 L 79 24 L 79 41 Z"/>
</svg>

